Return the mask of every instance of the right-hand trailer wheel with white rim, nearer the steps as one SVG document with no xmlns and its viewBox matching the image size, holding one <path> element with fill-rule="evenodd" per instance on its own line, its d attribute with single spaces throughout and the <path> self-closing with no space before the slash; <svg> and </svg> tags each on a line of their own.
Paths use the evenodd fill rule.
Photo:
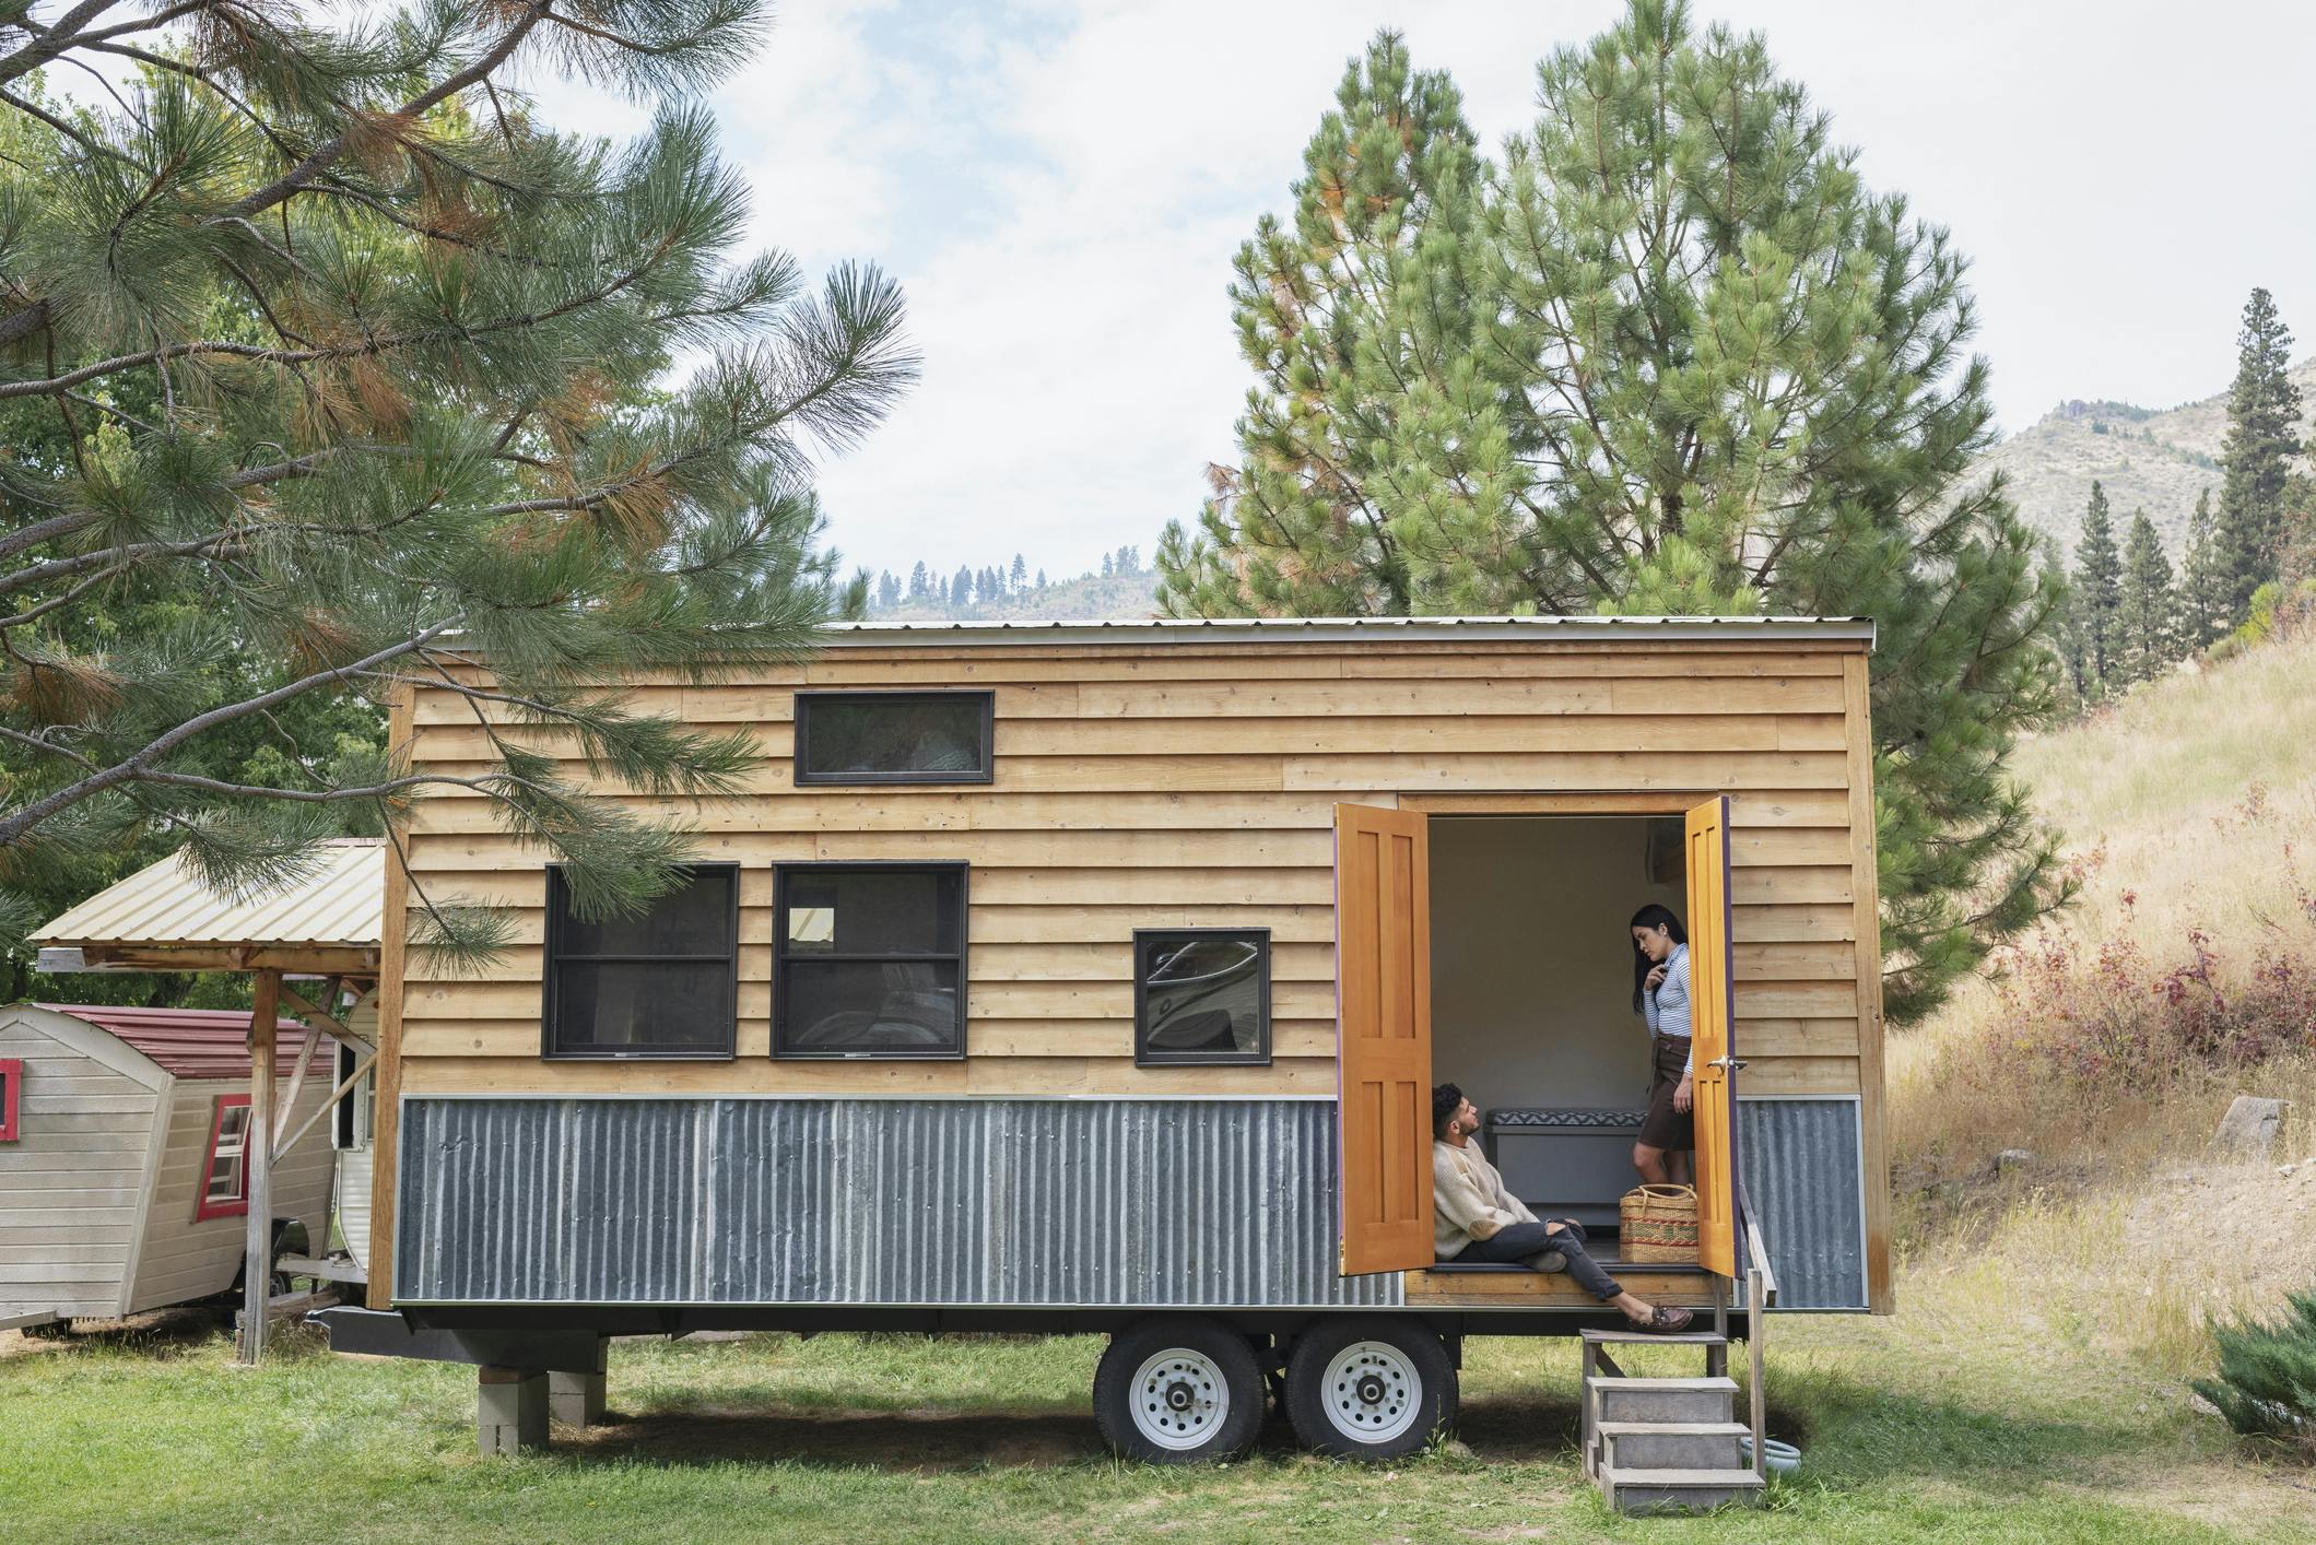
<svg viewBox="0 0 2316 1545">
<path fill-rule="evenodd" d="M 1339 1459 L 1399 1459 L 1454 1425 L 1448 1348 L 1420 1320 L 1322 1318 L 1288 1357 L 1288 1420 L 1304 1448 Z"/>
</svg>

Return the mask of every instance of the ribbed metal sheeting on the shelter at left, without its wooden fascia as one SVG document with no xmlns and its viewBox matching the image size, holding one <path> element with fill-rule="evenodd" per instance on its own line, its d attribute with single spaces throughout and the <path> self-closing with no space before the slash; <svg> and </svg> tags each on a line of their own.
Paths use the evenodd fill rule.
<svg viewBox="0 0 2316 1545">
<path fill-rule="evenodd" d="M 44 945 L 357 945 L 384 936 L 387 848 L 373 836 L 322 843 L 299 885 L 234 901 L 201 885 L 178 855 L 107 885 L 49 927 Z"/>
</svg>

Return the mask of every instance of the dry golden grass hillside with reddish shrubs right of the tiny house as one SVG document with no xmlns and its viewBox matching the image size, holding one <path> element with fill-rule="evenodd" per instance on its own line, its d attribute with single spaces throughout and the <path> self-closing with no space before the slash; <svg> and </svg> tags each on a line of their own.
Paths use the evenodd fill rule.
<svg viewBox="0 0 2316 1545">
<path fill-rule="evenodd" d="M 1929 1279 L 2031 1286 L 2172 1374 L 2205 1364 L 2209 1316 L 2316 1286 L 2311 672 L 2316 637 L 2281 642 L 2022 748 L 2082 894 L 1894 1040 Z M 2207 1154 L 2237 1093 L 2293 1100 L 2263 1160 Z"/>
</svg>

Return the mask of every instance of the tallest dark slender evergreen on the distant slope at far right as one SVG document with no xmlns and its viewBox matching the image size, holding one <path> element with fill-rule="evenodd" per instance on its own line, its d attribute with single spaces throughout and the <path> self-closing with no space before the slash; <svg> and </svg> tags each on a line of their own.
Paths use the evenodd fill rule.
<svg viewBox="0 0 2316 1545">
<path fill-rule="evenodd" d="M 2284 484 L 2300 454 L 2300 387 L 2288 371 L 2293 334 L 2274 296 L 2253 290 L 2235 336 L 2228 440 L 2221 449 L 2219 535 L 2228 558 L 2228 621 L 2240 623 L 2251 593 L 2277 577 L 2284 540 Z"/>
</svg>

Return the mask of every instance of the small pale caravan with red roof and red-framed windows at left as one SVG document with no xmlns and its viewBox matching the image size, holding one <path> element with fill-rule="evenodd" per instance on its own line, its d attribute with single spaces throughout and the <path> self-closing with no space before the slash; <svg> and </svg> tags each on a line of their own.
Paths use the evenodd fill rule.
<svg viewBox="0 0 2316 1545">
<path fill-rule="evenodd" d="M 225 1010 L 0 1010 L 0 1325 L 113 1318 L 234 1286 L 250 1209 L 248 1033 L 250 1017 Z M 283 1103 L 285 1137 L 329 1093 L 329 1056 L 308 1072 Z M 308 1128 L 273 1167 L 273 1218 L 324 1237 L 331 1167 L 329 1133 Z"/>
</svg>

